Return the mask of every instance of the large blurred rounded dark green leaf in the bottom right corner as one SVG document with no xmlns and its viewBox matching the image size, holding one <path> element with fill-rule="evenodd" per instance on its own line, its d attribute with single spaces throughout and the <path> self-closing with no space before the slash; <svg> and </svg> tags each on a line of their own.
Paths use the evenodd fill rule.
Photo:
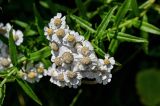
<svg viewBox="0 0 160 106">
<path fill-rule="evenodd" d="M 147 106 L 160 104 L 160 71 L 155 69 L 142 70 L 136 78 L 136 87 L 142 102 Z"/>
</svg>

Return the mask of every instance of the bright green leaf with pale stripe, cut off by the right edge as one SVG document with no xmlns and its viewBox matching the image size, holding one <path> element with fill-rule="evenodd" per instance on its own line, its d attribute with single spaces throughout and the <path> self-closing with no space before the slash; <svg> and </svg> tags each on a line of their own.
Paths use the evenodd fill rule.
<svg viewBox="0 0 160 106">
<path fill-rule="evenodd" d="M 156 35 L 160 35 L 160 29 L 152 24 L 147 23 L 147 22 L 144 22 L 144 21 L 141 22 L 139 20 L 134 20 L 133 25 L 134 25 L 134 27 L 136 27 L 142 31 L 156 34 Z"/>
</svg>

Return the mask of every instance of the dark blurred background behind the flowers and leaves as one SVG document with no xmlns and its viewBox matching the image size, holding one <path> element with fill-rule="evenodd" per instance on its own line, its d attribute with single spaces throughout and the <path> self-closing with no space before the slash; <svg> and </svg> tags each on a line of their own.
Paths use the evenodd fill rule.
<svg viewBox="0 0 160 106">
<path fill-rule="evenodd" d="M 123 0 L 82 0 L 83 5 L 77 2 L 78 0 L 0 0 L 0 22 L 11 22 L 15 29 L 23 31 L 24 29 L 15 23 L 15 20 L 20 20 L 31 25 L 34 30 L 35 5 L 45 25 L 57 12 L 61 12 L 63 15 L 73 13 L 80 16 L 94 23 L 93 27 L 96 28 L 101 22 L 101 13 L 108 12 L 110 7 L 122 3 Z M 141 5 L 146 0 L 137 2 Z M 85 13 L 81 13 L 80 8 L 86 9 Z M 95 13 L 97 8 L 100 10 Z M 160 1 L 154 1 L 147 11 L 148 22 L 160 28 Z M 92 18 L 85 17 L 86 13 L 91 14 Z M 71 28 L 78 31 L 73 21 L 67 19 Z M 142 33 L 136 28 L 129 31 L 136 36 Z M 149 34 L 148 40 L 148 54 L 144 53 L 138 44 L 119 45 L 114 57 L 122 67 L 115 67 L 111 83 L 105 86 L 82 84 L 78 89 L 59 88 L 51 84 L 48 77 L 30 85 L 43 106 L 160 106 L 160 36 Z M 34 43 L 31 45 L 34 46 Z M 107 43 L 104 45 L 108 46 Z M 13 82 L 7 84 L 4 106 L 39 105 Z"/>
</svg>

